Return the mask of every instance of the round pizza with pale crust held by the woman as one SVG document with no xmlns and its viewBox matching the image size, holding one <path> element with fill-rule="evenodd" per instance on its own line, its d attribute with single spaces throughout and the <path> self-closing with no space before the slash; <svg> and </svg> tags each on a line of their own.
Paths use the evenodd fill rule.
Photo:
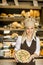
<svg viewBox="0 0 43 65">
<path fill-rule="evenodd" d="M 19 62 L 26 63 L 29 61 L 30 53 L 26 50 L 19 50 L 16 52 L 16 58 Z"/>
</svg>

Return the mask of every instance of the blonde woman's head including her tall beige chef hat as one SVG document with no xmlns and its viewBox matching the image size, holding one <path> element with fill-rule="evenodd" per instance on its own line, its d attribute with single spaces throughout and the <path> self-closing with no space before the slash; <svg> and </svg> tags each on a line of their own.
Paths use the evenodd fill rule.
<svg viewBox="0 0 43 65">
<path fill-rule="evenodd" d="M 34 18 L 27 18 L 24 20 L 24 25 L 26 28 L 26 33 L 28 35 L 32 35 L 35 31 L 35 19 Z"/>
</svg>

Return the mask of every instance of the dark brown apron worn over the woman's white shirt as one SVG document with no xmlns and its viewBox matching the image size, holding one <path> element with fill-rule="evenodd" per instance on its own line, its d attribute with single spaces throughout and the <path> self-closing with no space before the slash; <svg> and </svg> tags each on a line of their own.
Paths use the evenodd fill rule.
<svg viewBox="0 0 43 65">
<path fill-rule="evenodd" d="M 36 41 L 33 40 L 31 46 L 28 47 L 27 44 L 26 44 L 26 40 L 25 40 L 24 43 L 21 44 L 21 49 L 29 51 L 30 54 L 32 55 L 36 50 Z M 17 65 L 35 65 L 35 63 L 33 62 L 33 60 L 31 60 L 31 62 L 29 62 L 29 63 L 18 62 Z"/>
</svg>

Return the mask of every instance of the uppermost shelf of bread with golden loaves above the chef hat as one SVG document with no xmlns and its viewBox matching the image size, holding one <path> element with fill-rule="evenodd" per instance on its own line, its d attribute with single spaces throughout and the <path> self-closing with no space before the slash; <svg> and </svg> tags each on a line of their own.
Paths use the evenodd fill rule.
<svg viewBox="0 0 43 65">
<path fill-rule="evenodd" d="M 0 21 L 22 21 L 25 18 L 34 17 L 35 19 L 40 18 L 40 11 L 39 10 L 32 10 L 29 11 L 22 10 L 21 14 L 6 14 L 1 13 L 0 14 Z"/>
</svg>

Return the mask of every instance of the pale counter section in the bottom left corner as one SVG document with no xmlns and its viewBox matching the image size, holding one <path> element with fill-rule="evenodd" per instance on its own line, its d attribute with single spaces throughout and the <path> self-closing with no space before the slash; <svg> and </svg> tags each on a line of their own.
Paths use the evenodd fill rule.
<svg viewBox="0 0 43 65">
<path fill-rule="evenodd" d="M 0 65 L 16 65 L 16 61 L 14 58 L 0 57 Z"/>
</svg>

